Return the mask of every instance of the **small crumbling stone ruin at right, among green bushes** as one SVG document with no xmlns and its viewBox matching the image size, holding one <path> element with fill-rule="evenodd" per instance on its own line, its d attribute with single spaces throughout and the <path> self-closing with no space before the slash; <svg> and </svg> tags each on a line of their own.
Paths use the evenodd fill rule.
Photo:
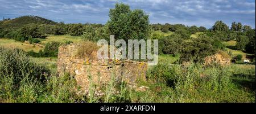
<svg viewBox="0 0 256 114">
<path fill-rule="evenodd" d="M 224 58 L 224 56 L 222 56 L 219 53 L 204 58 L 204 65 L 210 65 L 213 63 L 217 63 L 220 65 L 228 65 L 231 63 L 231 61 L 230 58 Z"/>
</svg>

